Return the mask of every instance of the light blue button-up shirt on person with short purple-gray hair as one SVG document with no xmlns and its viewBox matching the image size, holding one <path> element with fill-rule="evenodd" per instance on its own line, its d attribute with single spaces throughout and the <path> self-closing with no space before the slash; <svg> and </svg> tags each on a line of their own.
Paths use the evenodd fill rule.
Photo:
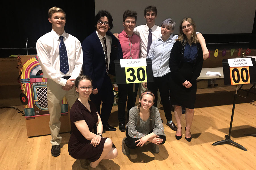
<svg viewBox="0 0 256 170">
<path fill-rule="evenodd" d="M 147 58 L 152 60 L 152 70 L 154 77 L 162 77 L 170 73 L 169 58 L 172 51 L 173 44 L 178 38 L 178 35 L 170 35 L 170 37 L 164 42 L 162 37 L 153 41 Z"/>
</svg>

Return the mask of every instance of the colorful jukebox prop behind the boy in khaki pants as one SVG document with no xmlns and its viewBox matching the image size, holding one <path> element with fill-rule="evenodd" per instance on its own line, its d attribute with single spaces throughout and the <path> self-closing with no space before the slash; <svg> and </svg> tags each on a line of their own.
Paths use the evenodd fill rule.
<svg viewBox="0 0 256 170">
<path fill-rule="evenodd" d="M 28 137 L 50 134 L 47 78 L 43 77 L 37 56 L 24 63 L 21 69 L 20 84 L 22 90 L 20 100 L 24 105 Z M 60 121 L 62 125 L 60 133 L 71 130 L 69 110 L 65 97 L 62 100 Z"/>
</svg>

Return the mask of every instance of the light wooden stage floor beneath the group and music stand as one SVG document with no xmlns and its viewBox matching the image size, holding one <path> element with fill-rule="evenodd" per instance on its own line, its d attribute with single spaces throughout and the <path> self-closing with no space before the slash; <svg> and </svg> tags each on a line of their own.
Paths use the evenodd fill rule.
<svg viewBox="0 0 256 170">
<path fill-rule="evenodd" d="M 249 94 L 248 98 L 238 96 L 234 113 L 231 139 L 248 151 L 232 145 L 212 146 L 212 143 L 223 140 L 228 134 L 234 90 L 235 86 L 197 90 L 191 143 L 184 138 L 184 115 L 183 138 L 177 141 L 175 131 L 166 125 L 164 111 L 160 107 L 167 140 L 159 146 L 159 154 L 152 152 L 150 143 L 131 150 L 128 156 L 122 153 L 121 141 L 125 133 L 118 130 L 117 106 L 113 106 L 109 122 L 117 131 L 106 131 L 103 136 L 112 139 L 118 156 L 113 160 L 103 160 L 100 164 L 107 170 L 255 169 L 256 137 L 244 134 L 256 133 L 256 95 Z M 239 95 L 246 96 L 246 93 L 240 91 Z M 23 110 L 23 106 L 15 107 Z M 174 115 L 173 121 L 176 123 Z M 61 154 L 53 157 L 50 152 L 51 136 L 28 138 L 25 118 L 15 109 L 0 109 L 0 127 L 0 169 L 83 169 L 79 160 L 68 154 L 69 133 L 61 134 Z"/>
</svg>

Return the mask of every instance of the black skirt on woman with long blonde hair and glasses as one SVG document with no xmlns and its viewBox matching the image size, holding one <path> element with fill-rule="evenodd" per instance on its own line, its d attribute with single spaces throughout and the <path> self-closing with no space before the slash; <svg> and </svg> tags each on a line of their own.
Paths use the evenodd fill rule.
<svg viewBox="0 0 256 170">
<path fill-rule="evenodd" d="M 193 74 L 194 63 L 182 63 L 180 67 L 181 75 L 190 80 Z M 182 83 L 178 83 L 173 76 L 170 76 L 170 101 L 172 105 L 182 106 L 189 109 L 195 108 L 195 98 L 197 94 L 196 82 L 190 88 L 185 88 Z"/>
</svg>

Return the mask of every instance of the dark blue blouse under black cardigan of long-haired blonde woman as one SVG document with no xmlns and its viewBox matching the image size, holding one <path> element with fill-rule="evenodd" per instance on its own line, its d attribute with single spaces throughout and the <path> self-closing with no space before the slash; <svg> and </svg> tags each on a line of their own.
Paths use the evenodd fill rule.
<svg viewBox="0 0 256 170">
<path fill-rule="evenodd" d="M 183 62 L 195 63 L 195 59 L 197 58 L 197 44 L 192 44 L 191 46 L 187 42 L 185 44 L 185 51 Z"/>
</svg>

